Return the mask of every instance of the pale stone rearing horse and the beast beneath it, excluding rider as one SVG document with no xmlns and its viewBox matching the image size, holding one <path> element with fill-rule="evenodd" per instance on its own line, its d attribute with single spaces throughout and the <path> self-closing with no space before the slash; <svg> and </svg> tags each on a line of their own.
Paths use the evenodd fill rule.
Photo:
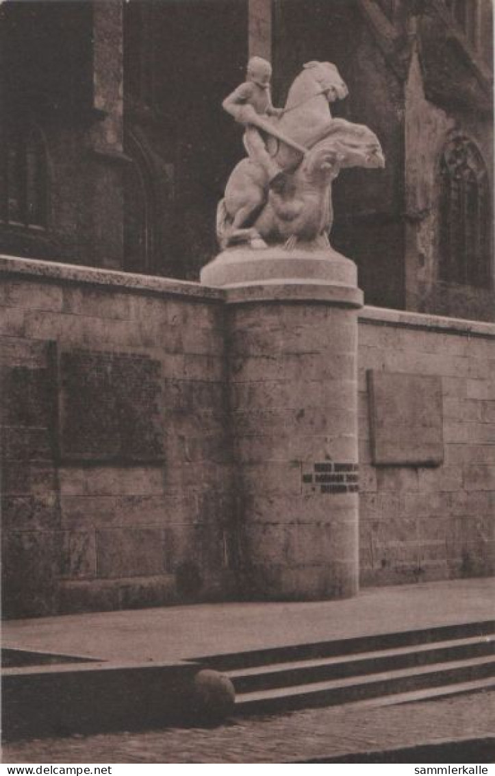
<svg viewBox="0 0 495 776">
<path fill-rule="evenodd" d="M 283 115 L 263 120 L 266 145 L 284 170 L 284 184 L 270 189 L 266 172 L 249 158 L 235 166 L 218 205 L 222 248 L 239 243 L 266 248 L 285 242 L 290 249 L 297 241 L 328 246 L 332 181 L 342 168 L 384 166 L 380 142 L 371 130 L 332 118 L 329 105 L 347 93 L 334 64 L 304 65 L 290 87 Z"/>
</svg>

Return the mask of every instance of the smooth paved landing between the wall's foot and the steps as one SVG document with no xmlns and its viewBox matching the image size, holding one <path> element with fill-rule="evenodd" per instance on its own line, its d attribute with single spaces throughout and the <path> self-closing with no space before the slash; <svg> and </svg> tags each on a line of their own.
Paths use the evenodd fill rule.
<svg viewBox="0 0 495 776">
<path fill-rule="evenodd" d="M 12 620 L 3 646 L 119 663 L 184 660 L 270 646 L 492 619 L 495 579 L 365 589 L 315 603 L 232 603 Z"/>
</svg>

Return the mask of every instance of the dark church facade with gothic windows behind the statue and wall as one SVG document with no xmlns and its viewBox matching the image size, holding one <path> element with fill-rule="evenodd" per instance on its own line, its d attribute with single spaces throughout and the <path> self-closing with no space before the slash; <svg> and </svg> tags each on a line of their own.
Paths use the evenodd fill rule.
<svg viewBox="0 0 495 776">
<path fill-rule="evenodd" d="M 387 166 L 335 187 L 368 303 L 493 319 L 490 0 L 2 4 L 3 252 L 197 279 L 242 155 L 221 109 L 249 55 L 273 102 L 306 61 L 349 86 Z"/>
</svg>

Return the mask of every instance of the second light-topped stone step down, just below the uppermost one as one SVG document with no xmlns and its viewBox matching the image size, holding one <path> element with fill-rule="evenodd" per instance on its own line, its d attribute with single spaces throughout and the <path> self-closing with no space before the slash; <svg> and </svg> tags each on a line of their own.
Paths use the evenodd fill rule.
<svg viewBox="0 0 495 776">
<path fill-rule="evenodd" d="M 452 660 L 396 670 L 352 676 L 296 686 L 269 688 L 239 694 L 236 712 L 272 713 L 296 708 L 340 705 L 365 698 L 380 698 L 425 688 L 479 681 L 495 676 L 495 657 Z"/>
</svg>

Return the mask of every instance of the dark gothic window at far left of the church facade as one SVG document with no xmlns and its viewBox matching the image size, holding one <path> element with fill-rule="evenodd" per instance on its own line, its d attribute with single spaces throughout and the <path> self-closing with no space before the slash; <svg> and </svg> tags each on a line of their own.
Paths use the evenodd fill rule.
<svg viewBox="0 0 495 776">
<path fill-rule="evenodd" d="M 0 222 L 17 227 L 46 227 L 48 175 L 40 130 L 12 131 L 2 144 Z"/>
</svg>

